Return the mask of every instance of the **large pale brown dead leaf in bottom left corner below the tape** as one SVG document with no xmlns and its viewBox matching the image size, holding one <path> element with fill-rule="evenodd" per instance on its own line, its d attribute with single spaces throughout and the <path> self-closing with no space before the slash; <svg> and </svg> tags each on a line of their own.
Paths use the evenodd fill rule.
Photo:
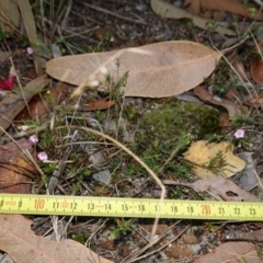
<svg viewBox="0 0 263 263">
<path fill-rule="evenodd" d="M 15 263 L 112 263 L 81 243 L 67 239 L 52 241 L 31 230 L 32 220 L 19 215 L 0 215 L 0 250 Z"/>
</svg>

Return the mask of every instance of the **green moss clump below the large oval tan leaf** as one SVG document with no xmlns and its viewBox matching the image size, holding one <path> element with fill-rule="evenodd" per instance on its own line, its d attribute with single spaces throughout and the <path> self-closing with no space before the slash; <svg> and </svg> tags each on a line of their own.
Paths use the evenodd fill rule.
<svg viewBox="0 0 263 263">
<path fill-rule="evenodd" d="M 218 111 L 205 105 L 171 102 L 144 115 L 139 140 L 148 147 L 162 145 L 170 150 L 183 135 L 190 134 L 191 138 L 202 139 L 207 134 L 220 130 L 218 117 Z"/>
</svg>

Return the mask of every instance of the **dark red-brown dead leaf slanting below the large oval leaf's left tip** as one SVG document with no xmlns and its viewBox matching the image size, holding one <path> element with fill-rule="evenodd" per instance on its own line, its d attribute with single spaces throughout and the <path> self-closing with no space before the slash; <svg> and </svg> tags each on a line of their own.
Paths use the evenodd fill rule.
<svg viewBox="0 0 263 263">
<path fill-rule="evenodd" d="M 52 110 L 52 106 L 62 101 L 67 93 L 68 85 L 66 83 L 60 83 L 56 88 L 49 88 L 47 91 L 34 95 L 28 103 L 28 108 L 24 107 L 14 121 L 36 119 L 37 117 L 44 116 Z"/>
</svg>

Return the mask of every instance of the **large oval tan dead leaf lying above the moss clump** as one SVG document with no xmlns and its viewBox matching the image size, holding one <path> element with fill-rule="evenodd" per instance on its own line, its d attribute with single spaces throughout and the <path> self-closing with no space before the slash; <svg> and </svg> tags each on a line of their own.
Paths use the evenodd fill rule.
<svg viewBox="0 0 263 263">
<path fill-rule="evenodd" d="M 95 80 L 104 81 L 102 70 L 115 81 L 128 71 L 127 85 L 123 89 L 126 96 L 165 98 L 202 83 L 215 70 L 220 57 L 218 52 L 198 43 L 163 42 L 118 52 L 55 58 L 46 64 L 46 71 L 81 89 Z M 116 58 L 121 59 L 119 67 Z"/>
</svg>

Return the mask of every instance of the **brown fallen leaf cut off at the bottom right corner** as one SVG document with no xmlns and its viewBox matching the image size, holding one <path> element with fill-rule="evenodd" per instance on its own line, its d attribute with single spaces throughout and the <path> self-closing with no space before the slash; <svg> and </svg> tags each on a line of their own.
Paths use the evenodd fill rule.
<svg viewBox="0 0 263 263">
<path fill-rule="evenodd" d="M 202 255 L 194 263 L 262 263 L 256 245 L 250 242 L 226 242 L 216 247 L 210 253 Z"/>
</svg>

